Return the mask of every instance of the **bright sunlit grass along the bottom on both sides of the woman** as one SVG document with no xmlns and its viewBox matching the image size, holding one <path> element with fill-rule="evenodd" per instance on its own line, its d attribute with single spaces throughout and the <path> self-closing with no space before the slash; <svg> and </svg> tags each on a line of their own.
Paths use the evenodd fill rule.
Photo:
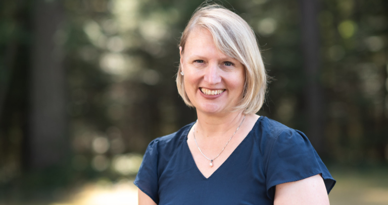
<svg viewBox="0 0 388 205">
<path fill-rule="evenodd" d="M 387 168 L 343 169 L 334 167 L 329 170 L 337 180 L 329 194 L 331 205 L 388 204 Z M 108 179 L 88 182 L 71 188 L 66 191 L 66 194 L 62 194 L 60 199 L 57 198 L 51 202 L 40 199 L 8 201 L 7 203 L 0 199 L 0 205 L 132 205 L 138 203 L 137 187 L 133 184 L 133 179 L 125 178 L 117 182 L 111 182 Z"/>
</svg>

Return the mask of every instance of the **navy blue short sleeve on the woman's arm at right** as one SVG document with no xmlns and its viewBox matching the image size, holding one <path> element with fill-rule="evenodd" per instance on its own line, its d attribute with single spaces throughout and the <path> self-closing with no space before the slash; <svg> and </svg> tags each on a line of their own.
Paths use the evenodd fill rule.
<svg viewBox="0 0 388 205">
<path fill-rule="evenodd" d="M 287 129 L 275 139 L 267 165 L 267 195 L 274 199 L 277 184 L 322 174 L 327 193 L 335 184 L 326 166 L 307 139 L 298 130 Z"/>
</svg>

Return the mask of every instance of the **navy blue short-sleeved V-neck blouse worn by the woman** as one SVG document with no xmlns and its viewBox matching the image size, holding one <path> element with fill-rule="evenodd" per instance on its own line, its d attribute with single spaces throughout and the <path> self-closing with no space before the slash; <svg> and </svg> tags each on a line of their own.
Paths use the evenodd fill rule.
<svg viewBox="0 0 388 205">
<path fill-rule="evenodd" d="M 134 184 L 157 204 L 273 204 L 275 185 L 322 174 L 335 184 L 306 135 L 261 116 L 229 158 L 209 177 L 187 145 L 194 122 L 157 138 L 144 154 Z"/>
</svg>

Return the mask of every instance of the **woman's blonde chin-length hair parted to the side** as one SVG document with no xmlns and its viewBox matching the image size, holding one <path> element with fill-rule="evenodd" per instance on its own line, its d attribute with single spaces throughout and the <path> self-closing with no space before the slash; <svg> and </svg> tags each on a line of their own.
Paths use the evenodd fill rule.
<svg viewBox="0 0 388 205">
<path fill-rule="evenodd" d="M 220 5 L 203 4 L 191 16 L 182 33 L 179 43 L 182 53 L 189 33 L 196 27 L 208 29 L 217 49 L 240 61 L 246 69 L 244 91 L 234 111 L 245 114 L 258 112 L 265 99 L 267 74 L 252 28 L 244 19 Z M 181 71 L 182 65 L 179 63 L 176 75 L 178 92 L 183 101 L 193 107 L 185 92 L 184 76 L 179 74 Z"/>
</svg>

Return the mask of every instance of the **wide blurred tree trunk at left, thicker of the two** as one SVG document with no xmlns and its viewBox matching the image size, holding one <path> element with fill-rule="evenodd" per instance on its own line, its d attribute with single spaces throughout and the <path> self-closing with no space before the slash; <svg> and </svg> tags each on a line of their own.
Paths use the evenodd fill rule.
<svg viewBox="0 0 388 205">
<path fill-rule="evenodd" d="M 36 0 L 30 74 L 27 167 L 48 167 L 64 158 L 66 140 L 65 71 L 55 40 L 63 20 L 61 1 Z"/>
</svg>

